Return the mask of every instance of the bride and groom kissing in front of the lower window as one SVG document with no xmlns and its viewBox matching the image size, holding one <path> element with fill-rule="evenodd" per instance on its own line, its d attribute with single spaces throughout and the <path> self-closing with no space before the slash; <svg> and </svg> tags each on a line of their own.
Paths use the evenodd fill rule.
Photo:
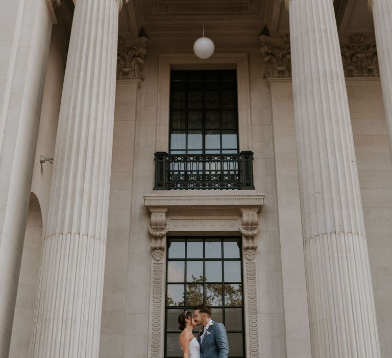
<svg viewBox="0 0 392 358">
<path fill-rule="evenodd" d="M 178 316 L 180 345 L 183 358 L 227 358 L 229 343 L 225 326 L 211 319 L 211 308 L 200 305 L 194 308 L 194 314 L 184 311 Z M 203 325 L 198 338 L 194 337 L 193 329 Z"/>
</svg>

